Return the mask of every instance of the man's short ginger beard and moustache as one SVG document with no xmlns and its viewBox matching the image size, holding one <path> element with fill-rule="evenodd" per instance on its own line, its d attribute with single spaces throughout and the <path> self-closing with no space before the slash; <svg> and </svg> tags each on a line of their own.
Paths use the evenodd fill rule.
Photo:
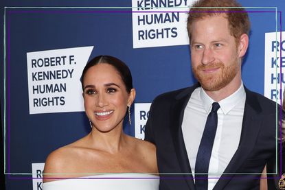
<svg viewBox="0 0 285 190">
<path fill-rule="evenodd" d="M 192 71 L 205 91 L 218 91 L 235 78 L 238 73 L 238 67 L 238 60 L 236 59 L 227 67 L 225 67 L 223 62 L 215 62 L 207 65 L 201 64 L 196 68 L 192 67 Z M 220 71 L 214 71 L 214 73 L 203 72 L 205 69 L 215 68 L 219 68 Z"/>
</svg>

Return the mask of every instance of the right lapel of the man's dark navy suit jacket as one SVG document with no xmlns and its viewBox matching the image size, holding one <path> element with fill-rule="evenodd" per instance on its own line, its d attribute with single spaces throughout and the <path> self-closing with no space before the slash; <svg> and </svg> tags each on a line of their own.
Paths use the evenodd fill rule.
<svg viewBox="0 0 285 190">
<path fill-rule="evenodd" d="M 231 178 L 235 176 L 235 173 L 238 172 L 238 169 L 242 166 L 244 160 L 247 158 L 247 156 L 244 155 L 250 154 L 258 137 L 258 132 L 262 122 L 262 120 L 258 118 L 258 115 L 261 112 L 260 104 L 251 91 L 247 90 L 245 87 L 244 89 L 246 91 L 246 102 L 244 105 L 242 132 L 238 150 L 236 150 L 233 158 L 231 158 L 229 165 L 227 165 L 225 172 L 220 177 L 220 180 L 218 180 L 216 183 L 214 189 L 223 189 Z"/>
</svg>

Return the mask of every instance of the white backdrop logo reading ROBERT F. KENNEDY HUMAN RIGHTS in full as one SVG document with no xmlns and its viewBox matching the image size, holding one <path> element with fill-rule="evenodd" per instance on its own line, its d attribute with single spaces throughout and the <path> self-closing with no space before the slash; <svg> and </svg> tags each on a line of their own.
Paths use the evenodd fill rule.
<svg viewBox="0 0 285 190">
<path fill-rule="evenodd" d="M 27 53 L 30 114 L 84 111 L 80 76 L 92 49 Z"/>
</svg>

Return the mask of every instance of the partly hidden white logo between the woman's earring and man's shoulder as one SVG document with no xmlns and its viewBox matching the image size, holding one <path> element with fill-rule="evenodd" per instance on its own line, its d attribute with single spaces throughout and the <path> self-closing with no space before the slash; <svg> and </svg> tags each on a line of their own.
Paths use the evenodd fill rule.
<svg viewBox="0 0 285 190">
<path fill-rule="evenodd" d="M 135 137 L 138 139 L 144 139 L 150 105 L 151 103 L 135 103 Z"/>
</svg>

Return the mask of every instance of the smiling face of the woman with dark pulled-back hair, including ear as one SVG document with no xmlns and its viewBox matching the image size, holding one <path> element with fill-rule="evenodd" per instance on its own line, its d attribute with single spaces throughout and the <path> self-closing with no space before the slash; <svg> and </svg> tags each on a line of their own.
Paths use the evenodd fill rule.
<svg viewBox="0 0 285 190">
<path fill-rule="evenodd" d="M 84 108 L 93 127 L 109 132 L 122 126 L 127 106 L 133 103 L 118 71 L 111 64 L 96 64 L 87 70 L 83 84 Z"/>
</svg>

